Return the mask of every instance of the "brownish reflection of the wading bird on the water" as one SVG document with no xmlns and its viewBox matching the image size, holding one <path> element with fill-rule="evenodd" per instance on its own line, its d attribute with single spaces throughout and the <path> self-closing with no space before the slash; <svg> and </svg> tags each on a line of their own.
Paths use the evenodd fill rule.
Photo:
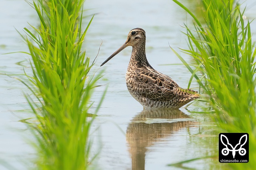
<svg viewBox="0 0 256 170">
<path fill-rule="evenodd" d="M 145 169 L 147 147 L 192 124 L 192 119 L 175 109 L 144 110 L 136 115 L 126 130 L 132 158 L 132 170 Z"/>
</svg>

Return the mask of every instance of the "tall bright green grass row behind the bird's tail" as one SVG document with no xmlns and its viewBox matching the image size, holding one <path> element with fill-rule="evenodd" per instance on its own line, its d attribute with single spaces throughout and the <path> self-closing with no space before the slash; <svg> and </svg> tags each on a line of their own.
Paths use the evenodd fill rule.
<svg viewBox="0 0 256 170">
<path fill-rule="evenodd" d="M 191 71 L 208 102 L 216 112 L 221 132 L 249 134 L 249 163 L 229 164 L 234 169 L 253 169 L 256 161 L 256 49 L 252 42 L 250 22 L 234 0 L 202 0 L 204 24 L 188 8 L 173 0 L 194 19 L 194 28 L 186 27 L 189 49 L 196 69 L 180 56 Z M 199 78 L 201 77 L 201 78 Z"/>
</svg>

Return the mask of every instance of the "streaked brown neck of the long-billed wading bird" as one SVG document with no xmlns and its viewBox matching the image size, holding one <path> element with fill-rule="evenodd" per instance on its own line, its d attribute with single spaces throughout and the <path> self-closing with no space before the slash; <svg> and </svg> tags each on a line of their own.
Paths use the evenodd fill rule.
<svg viewBox="0 0 256 170">
<path fill-rule="evenodd" d="M 146 57 L 146 50 L 145 50 L 145 43 L 143 44 L 136 44 L 132 47 L 132 55 L 130 59 L 129 66 L 137 66 L 137 67 L 143 67 L 143 66 L 150 66 L 148 63 L 147 57 Z"/>
</svg>

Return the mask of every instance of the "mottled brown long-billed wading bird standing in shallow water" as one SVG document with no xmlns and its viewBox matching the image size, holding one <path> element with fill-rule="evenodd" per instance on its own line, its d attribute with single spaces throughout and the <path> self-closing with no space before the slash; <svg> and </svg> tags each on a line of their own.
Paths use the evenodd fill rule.
<svg viewBox="0 0 256 170">
<path fill-rule="evenodd" d="M 200 97 L 197 91 L 182 89 L 167 75 L 156 71 L 146 58 L 146 32 L 134 28 L 127 40 L 100 66 L 108 62 L 127 46 L 132 46 L 132 55 L 126 72 L 126 85 L 132 95 L 145 109 L 174 108 L 178 109 Z"/>
</svg>

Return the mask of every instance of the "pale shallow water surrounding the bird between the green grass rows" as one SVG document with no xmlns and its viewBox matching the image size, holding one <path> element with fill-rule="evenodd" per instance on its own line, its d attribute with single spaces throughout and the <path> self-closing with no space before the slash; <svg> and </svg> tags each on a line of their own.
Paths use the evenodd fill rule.
<svg viewBox="0 0 256 170">
<path fill-rule="evenodd" d="M 246 3 L 250 6 L 246 16 L 252 20 L 255 15 L 254 1 L 248 0 Z M 198 9 L 196 4 L 184 4 Z M 183 65 L 175 65 L 181 62 L 169 47 L 169 44 L 177 50 L 178 47 L 187 47 L 186 37 L 180 30 L 185 31 L 181 27 L 183 23 L 191 23 L 181 8 L 170 0 L 154 3 L 146 0 L 122 3 L 118 0 L 86 0 L 85 8 L 91 9 L 85 12 L 86 15 L 97 13 L 86 36 L 86 55 L 94 58 L 102 42 L 93 68 L 94 71 L 104 69 L 104 79 L 99 82 L 103 86 L 95 90 L 92 98 L 92 101 L 96 101 L 95 106 L 108 85 L 99 117 L 92 127 L 92 152 L 96 154 L 100 150 L 92 166 L 103 170 L 180 169 L 168 167 L 167 164 L 216 155 L 218 138 L 212 130 L 214 124 L 210 115 L 190 113 L 184 108 L 178 111 L 143 111 L 140 103 L 132 98 L 125 83 L 131 47 L 99 67 L 125 42 L 132 28 L 140 27 L 146 31 L 149 63 L 186 88 L 190 73 Z M 22 32 L 22 28 L 28 27 L 27 22 L 35 26 L 36 13 L 23 0 L 2 0 L 0 21 L 0 73 L 22 73 L 22 67 L 15 63 L 26 59 L 26 55 L 2 53 L 27 49 L 15 28 Z M 255 22 L 251 28 L 255 28 Z M 255 33 L 255 30 L 252 32 Z M 190 61 L 189 56 L 182 56 Z M 25 170 L 35 154 L 28 144 L 30 132 L 23 123 L 18 122 L 31 117 L 22 92 L 28 91 L 21 83 L 7 76 L 0 75 L 0 82 L 0 164 L 7 162 L 19 170 Z M 196 83 L 191 88 L 198 90 Z M 200 103 L 194 103 L 188 109 L 198 110 L 198 105 Z M 218 159 L 202 159 L 184 166 L 215 169 L 220 165 Z M 6 168 L 0 165 L 0 169 Z"/>
</svg>

